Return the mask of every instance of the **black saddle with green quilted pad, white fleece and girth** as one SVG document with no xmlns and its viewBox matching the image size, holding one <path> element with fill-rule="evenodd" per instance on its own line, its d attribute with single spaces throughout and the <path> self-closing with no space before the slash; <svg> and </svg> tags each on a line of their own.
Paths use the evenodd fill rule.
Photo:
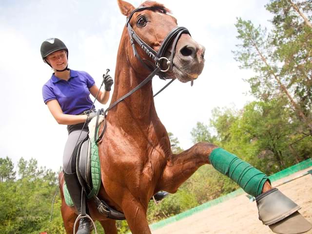
<svg viewBox="0 0 312 234">
<path fill-rule="evenodd" d="M 98 137 L 99 126 L 102 123 L 104 124 L 104 129 Z M 125 219 L 123 213 L 114 210 L 97 196 L 101 186 L 101 169 L 97 143 L 103 137 L 105 129 L 105 118 L 98 111 L 97 117 L 94 117 L 89 123 L 89 135 L 76 146 L 73 152 L 73 157 L 76 158 L 76 173 L 86 197 L 95 201 L 98 211 L 108 218 L 123 220 Z M 63 191 L 66 204 L 73 206 L 74 203 L 68 193 L 66 184 L 64 184 Z"/>
</svg>

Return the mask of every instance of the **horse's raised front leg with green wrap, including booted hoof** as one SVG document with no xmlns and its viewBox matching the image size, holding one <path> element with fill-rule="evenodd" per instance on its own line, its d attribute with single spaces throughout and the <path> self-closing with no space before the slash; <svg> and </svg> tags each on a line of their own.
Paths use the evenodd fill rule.
<svg viewBox="0 0 312 234">
<path fill-rule="evenodd" d="M 198 143 L 170 158 L 163 174 L 164 190 L 175 192 L 204 163 L 212 164 L 217 171 L 234 180 L 247 194 L 255 196 L 259 219 L 273 232 L 299 234 L 312 228 L 311 223 L 298 213 L 300 207 L 297 204 L 276 188 L 272 189 L 267 175 L 234 154 L 209 143 Z M 290 229 L 292 232 L 288 232 Z"/>
</svg>

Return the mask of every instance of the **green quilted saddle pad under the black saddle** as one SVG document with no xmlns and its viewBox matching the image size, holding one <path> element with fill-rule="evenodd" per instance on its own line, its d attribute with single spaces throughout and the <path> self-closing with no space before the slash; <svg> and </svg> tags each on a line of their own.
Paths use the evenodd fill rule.
<svg viewBox="0 0 312 234">
<path fill-rule="evenodd" d="M 98 145 L 91 139 L 91 178 L 93 188 L 87 195 L 87 198 L 91 198 L 93 195 L 98 195 L 98 191 L 101 185 L 101 168 L 99 164 Z M 68 192 L 66 183 L 63 185 L 63 194 L 65 202 L 68 206 L 74 206 L 74 202 Z"/>
</svg>

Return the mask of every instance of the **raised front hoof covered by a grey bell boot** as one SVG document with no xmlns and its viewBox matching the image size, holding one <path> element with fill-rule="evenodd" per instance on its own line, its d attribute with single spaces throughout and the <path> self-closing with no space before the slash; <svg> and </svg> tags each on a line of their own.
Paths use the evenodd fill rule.
<svg viewBox="0 0 312 234">
<path fill-rule="evenodd" d="M 274 233 L 300 234 L 312 228 L 298 210 L 301 209 L 278 189 L 273 188 L 256 197 L 259 219 Z"/>
</svg>

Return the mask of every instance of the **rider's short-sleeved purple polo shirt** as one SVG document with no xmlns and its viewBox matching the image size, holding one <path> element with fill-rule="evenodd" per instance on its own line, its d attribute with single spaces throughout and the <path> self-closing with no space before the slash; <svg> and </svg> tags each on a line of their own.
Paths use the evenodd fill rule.
<svg viewBox="0 0 312 234">
<path fill-rule="evenodd" d="M 70 70 L 68 81 L 52 74 L 42 87 L 44 103 L 57 99 L 64 114 L 81 114 L 92 106 L 89 88 L 94 84 L 94 79 L 82 71 Z"/>
</svg>

